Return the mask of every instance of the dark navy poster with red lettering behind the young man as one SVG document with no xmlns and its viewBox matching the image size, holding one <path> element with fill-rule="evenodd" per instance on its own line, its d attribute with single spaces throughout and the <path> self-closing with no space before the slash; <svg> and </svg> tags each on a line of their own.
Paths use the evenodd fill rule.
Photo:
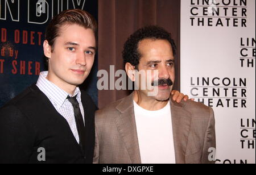
<svg viewBox="0 0 256 175">
<path fill-rule="evenodd" d="M 0 0 L 0 107 L 37 81 L 44 71 L 44 32 L 52 16 L 83 9 L 96 19 L 96 0 Z M 97 59 L 82 85 L 97 103 Z"/>
</svg>

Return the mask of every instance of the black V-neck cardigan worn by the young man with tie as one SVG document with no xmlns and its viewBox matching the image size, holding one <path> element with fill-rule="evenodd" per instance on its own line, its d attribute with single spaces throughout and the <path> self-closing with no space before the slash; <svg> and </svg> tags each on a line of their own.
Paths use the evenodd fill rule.
<svg viewBox="0 0 256 175">
<path fill-rule="evenodd" d="M 67 120 L 32 85 L 0 109 L 0 163 L 92 163 L 97 106 L 82 90 L 81 100 L 86 128 L 84 153 Z M 42 150 L 46 151 L 45 161 L 40 161 Z"/>
</svg>

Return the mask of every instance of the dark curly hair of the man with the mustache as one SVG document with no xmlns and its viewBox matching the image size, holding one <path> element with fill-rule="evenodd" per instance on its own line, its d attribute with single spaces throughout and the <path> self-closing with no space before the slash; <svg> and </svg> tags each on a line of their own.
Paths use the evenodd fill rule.
<svg viewBox="0 0 256 175">
<path fill-rule="evenodd" d="M 129 62 L 138 69 L 139 60 L 141 59 L 141 53 L 138 51 L 138 43 L 144 39 L 167 40 L 172 46 L 172 52 L 176 55 L 176 45 L 174 40 L 171 38 L 171 34 L 162 27 L 147 26 L 137 30 L 125 42 L 122 52 L 124 64 Z"/>
</svg>

